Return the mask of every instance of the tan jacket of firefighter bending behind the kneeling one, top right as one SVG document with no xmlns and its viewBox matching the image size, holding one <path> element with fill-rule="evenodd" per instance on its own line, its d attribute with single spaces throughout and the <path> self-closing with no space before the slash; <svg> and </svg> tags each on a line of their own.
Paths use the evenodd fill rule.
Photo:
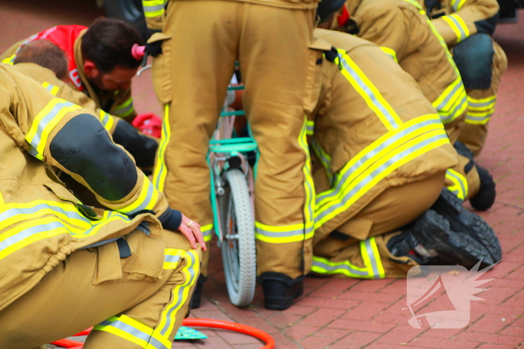
<svg viewBox="0 0 524 349">
<path fill-rule="evenodd" d="M 348 0 L 346 6 L 350 26 L 340 27 L 335 18 L 332 29 L 356 26 L 358 37 L 376 43 L 396 60 L 439 112 L 454 142 L 467 113 L 466 92 L 446 44 L 420 5 L 407 0 Z"/>
</svg>

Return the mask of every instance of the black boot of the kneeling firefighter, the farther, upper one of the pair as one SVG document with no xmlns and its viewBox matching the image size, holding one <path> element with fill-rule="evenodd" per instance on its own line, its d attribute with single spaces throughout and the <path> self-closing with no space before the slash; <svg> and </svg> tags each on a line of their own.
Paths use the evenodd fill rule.
<svg viewBox="0 0 524 349">
<path fill-rule="evenodd" d="M 488 223 L 476 213 L 466 210 L 461 199 L 447 189 L 443 189 L 439 198 L 431 209 L 438 212 L 450 222 L 450 228 L 470 235 L 474 240 L 482 243 L 489 251 L 495 262 L 502 259 L 502 249 L 497 235 Z"/>
</svg>

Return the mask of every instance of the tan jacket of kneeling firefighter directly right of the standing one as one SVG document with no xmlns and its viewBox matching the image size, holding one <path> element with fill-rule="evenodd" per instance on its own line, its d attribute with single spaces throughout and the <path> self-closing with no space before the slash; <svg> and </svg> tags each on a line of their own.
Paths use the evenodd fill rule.
<svg viewBox="0 0 524 349">
<path fill-rule="evenodd" d="M 417 83 L 379 47 L 338 31 L 314 36 L 339 49 L 334 63 L 324 59 L 313 113 L 316 243 L 385 189 L 444 172 L 457 155 Z"/>
</svg>

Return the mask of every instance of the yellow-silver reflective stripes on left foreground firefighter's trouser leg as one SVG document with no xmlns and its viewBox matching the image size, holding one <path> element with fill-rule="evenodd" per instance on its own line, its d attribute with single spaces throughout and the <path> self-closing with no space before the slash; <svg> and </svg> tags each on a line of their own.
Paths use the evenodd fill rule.
<svg viewBox="0 0 524 349">
<path fill-rule="evenodd" d="M 171 348 L 174 334 L 176 334 L 176 332 L 173 333 L 173 328 L 177 322 L 180 325 L 182 320 L 178 311 L 189 301 L 191 297 L 189 291 L 199 274 L 199 257 L 193 250 L 166 249 L 163 268 L 176 269 L 180 260 L 186 262 L 180 270 L 180 273 L 184 275 L 184 281 L 173 287 L 169 302 L 162 309 L 155 329 L 123 314 L 101 322 L 93 330 L 112 333 L 144 349 Z M 185 316 L 185 313 L 182 316 Z"/>
</svg>

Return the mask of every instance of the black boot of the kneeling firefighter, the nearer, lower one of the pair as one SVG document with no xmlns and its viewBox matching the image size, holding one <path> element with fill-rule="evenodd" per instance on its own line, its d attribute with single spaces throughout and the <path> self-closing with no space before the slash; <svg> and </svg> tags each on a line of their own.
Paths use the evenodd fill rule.
<svg viewBox="0 0 524 349">
<path fill-rule="evenodd" d="M 418 242 L 416 250 L 434 255 L 438 264 L 459 264 L 470 269 L 481 260 L 481 267 L 494 263 L 486 247 L 470 235 L 454 231 L 447 219 L 431 209 L 414 222 L 410 231 Z"/>
</svg>

